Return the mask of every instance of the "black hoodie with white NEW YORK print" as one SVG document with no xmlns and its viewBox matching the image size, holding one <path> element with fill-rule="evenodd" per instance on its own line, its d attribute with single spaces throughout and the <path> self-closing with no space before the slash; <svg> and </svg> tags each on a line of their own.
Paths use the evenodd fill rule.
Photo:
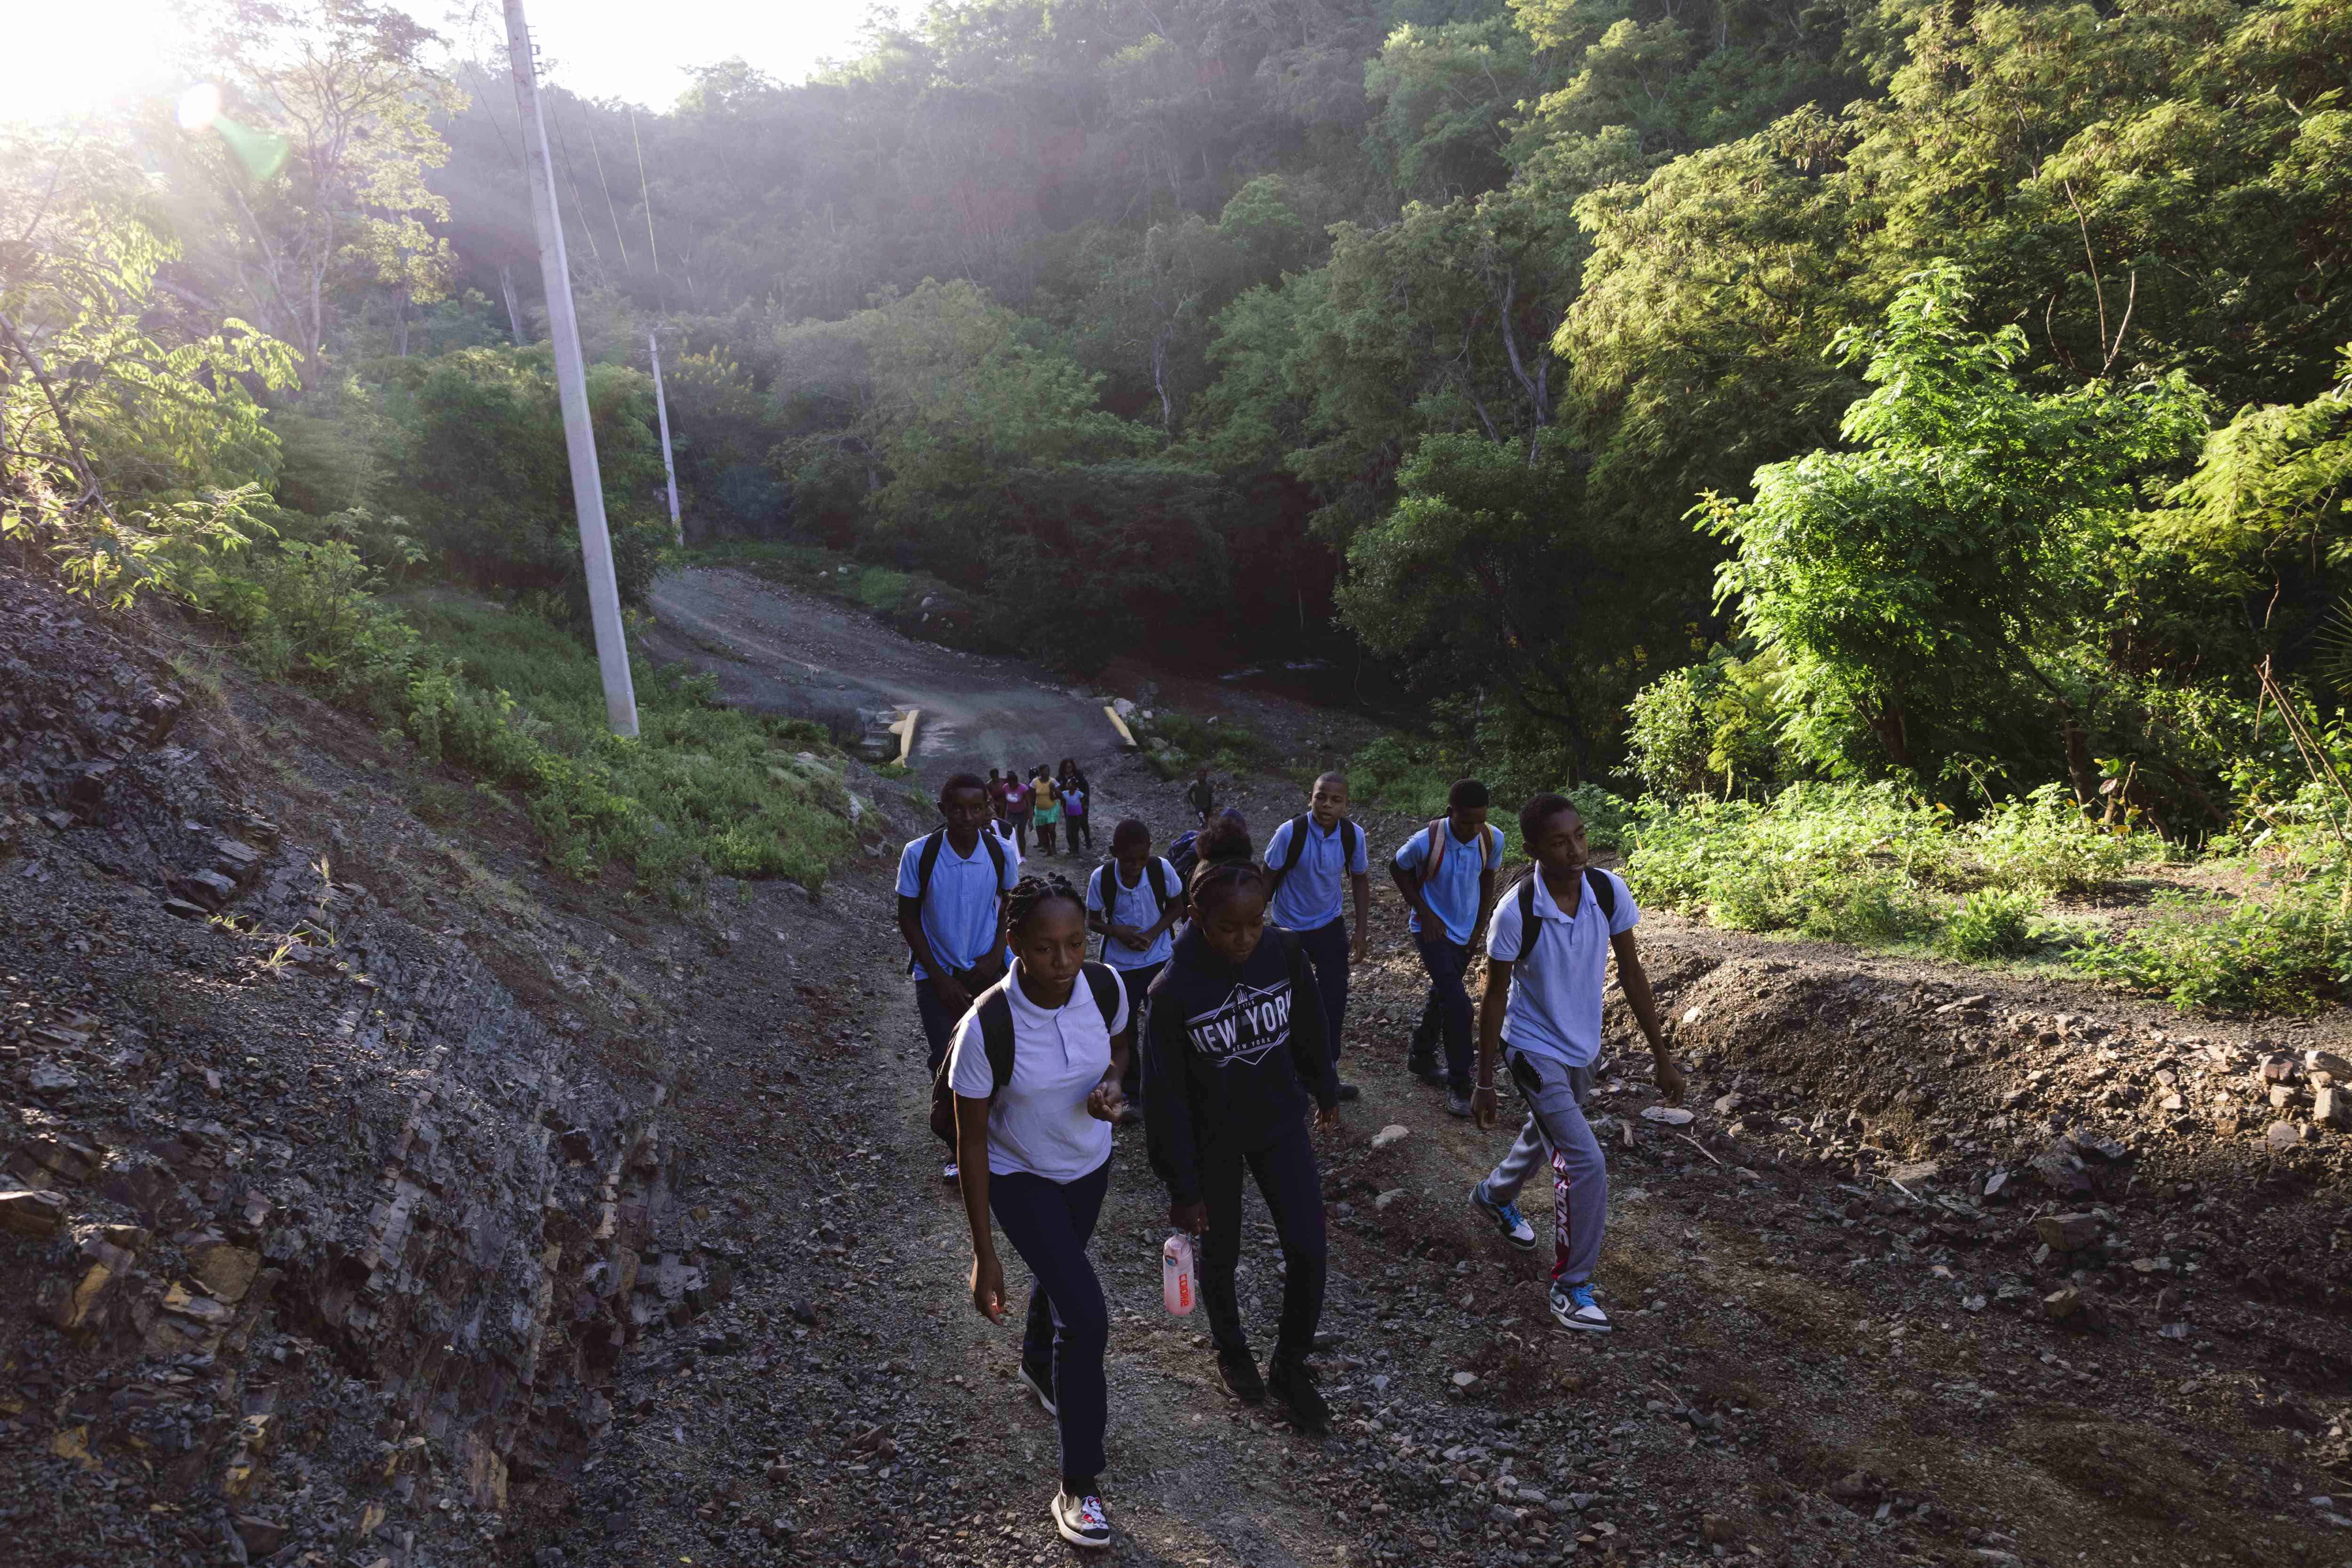
<svg viewBox="0 0 2352 1568">
<path fill-rule="evenodd" d="M 1176 1204 L 1200 1201 L 1202 1154 L 1263 1150 L 1338 1105 L 1322 994 L 1294 938 L 1265 929 L 1249 961 L 1185 931 L 1152 980 L 1143 1034 L 1143 1145 Z"/>
</svg>

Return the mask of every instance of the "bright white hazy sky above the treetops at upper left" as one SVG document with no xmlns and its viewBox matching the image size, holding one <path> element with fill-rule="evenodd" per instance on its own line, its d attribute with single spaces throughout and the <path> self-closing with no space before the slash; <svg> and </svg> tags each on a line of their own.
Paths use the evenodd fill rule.
<svg viewBox="0 0 2352 1568">
<path fill-rule="evenodd" d="M 492 35 L 503 31 L 494 2 L 468 2 L 454 19 L 449 0 L 405 5 L 461 49 L 477 42 L 485 28 Z M 24 7 L 9 19 L 12 66 L 0 80 L 0 120 L 59 120 L 125 94 L 179 94 L 188 82 L 172 68 L 179 35 L 172 9 L 172 0 L 35 0 Z M 802 80 L 826 56 L 849 54 L 866 5 L 536 0 L 529 19 L 553 82 L 595 99 L 668 108 L 687 87 L 689 66 L 731 54 L 783 82 Z M 94 40 L 106 40 L 103 52 L 92 49 Z"/>
</svg>

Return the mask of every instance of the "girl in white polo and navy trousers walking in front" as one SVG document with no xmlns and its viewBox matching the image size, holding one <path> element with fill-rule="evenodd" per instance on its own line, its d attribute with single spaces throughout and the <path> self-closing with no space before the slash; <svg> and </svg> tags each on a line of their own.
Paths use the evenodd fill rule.
<svg viewBox="0 0 2352 1568">
<path fill-rule="evenodd" d="M 1037 1276 L 1021 1382 L 1061 1434 L 1054 1528 L 1073 1547 L 1108 1547 L 1110 1307 L 1087 1241 L 1110 1190 L 1110 1126 L 1131 1046 L 1127 987 L 1087 964 L 1087 910 L 1063 877 L 1021 879 L 1009 938 L 1014 969 L 964 1013 L 943 1074 L 971 1227 L 971 1305 L 1004 1321 L 995 1215 Z"/>
</svg>

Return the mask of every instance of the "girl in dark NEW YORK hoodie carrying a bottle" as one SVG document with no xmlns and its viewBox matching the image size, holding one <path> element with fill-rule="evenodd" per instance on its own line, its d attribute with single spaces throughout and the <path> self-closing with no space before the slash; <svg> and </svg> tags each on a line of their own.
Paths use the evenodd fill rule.
<svg viewBox="0 0 2352 1568">
<path fill-rule="evenodd" d="M 1331 1410 L 1315 1389 L 1308 1352 L 1322 1319 L 1327 1244 L 1308 1112 L 1338 1126 L 1338 1072 L 1324 1051 L 1315 976 L 1298 945 L 1268 929 L 1272 884 L 1249 860 L 1247 830 L 1230 832 L 1240 835 L 1240 858 L 1235 846 L 1202 835 L 1188 889 L 1192 926 L 1150 987 L 1145 1147 L 1169 1187 L 1169 1222 L 1204 1237 L 1200 1298 L 1225 1387 L 1242 1403 L 1272 1396 L 1291 1425 L 1322 1432 Z M 1265 1378 L 1232 1295 L 1244 1171 L 1265 1194 L 1287 1265 Z"/>
</svg>

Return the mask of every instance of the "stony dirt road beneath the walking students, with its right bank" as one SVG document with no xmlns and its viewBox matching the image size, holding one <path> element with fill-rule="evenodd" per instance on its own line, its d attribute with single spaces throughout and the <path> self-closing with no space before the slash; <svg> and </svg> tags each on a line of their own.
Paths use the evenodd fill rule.
<svg viewBox="0 0 2352 1568">
<path fill-rule="evenodd" d="M 781 639 L 797 602 L 727 611 L 739 592 L 710 590 L 703 625 L 736 614 Z M 896 691 L 1004 715 L 985 719 L 1000 733 L 1056 712 L 1021 677 L 983 686 L 981 661 L 908 656 L 873 628 L 849 628 L 847 658 L 809 639 L 840 614 L 781 646 L 870 658 Z M 953 684 L 931 675 L 946 661 L 964 665 Z M 1096 780 L 1162 839 L 1183 820 L 1178 785 L 1134 759 Z M 1223 799 L 1263 835 L 1294 788 L 1230 780 Z M 1359 816 L 1383 846 L 1409 830 Z M 586 1561 L 1073 1561 L 1044 1519 L 1054 1434 L 1014 1382 L 1016 1331 L 967 1302 L 880 875 L 830 886 L 826 907 L 823 945 L 795 950 L 821 983 L 795 987 L 774 1037 L 717 1041 L 677 1103 L 713 1225 L 753 1267 L 623 1373 L 623 1420 L 583 1483 L 590 1528 L 567 1544 Z M 2274 1159 L 2234 1131 L 2239 1103 L 2267 1117 L 2267 1088 L 2237 1081 L 2258 1032 L 1665 914 L 1644 943 L 1698 1119 L 1639 1114 L 1646 1058 L 1613 1006 L 1606 1340 L 1555 1331 L 1548 1248 L 1512 1253 L 1463 1199 L 1510 1131 L 1449 1119 L 1404 1074 L 1421 976 L 1385 886 L 1350 1011 L 1364 1100 L 1317 1140 L 1327 1439 L 1235 1408 L 1202 1324 L 1160 1309 L 1167 1199 L 1122 1135 L 1094 1244 L 1115 1561 L 2345 1556 L 2331 1476 L 2352 1474 L 2352 1333 L 2319 1241 L 2345 1234 L 2340 1152 L 2314 1133 Z M 2340 1039 L 2321 1025 L 2296 1044 Z M 2133 1112 L 2171 1084 L 2197 1084 L 2194 1114 Z M 1406 1131 L 1376 1143 L 1385 1126 Z M 1524 1201 L 1548 1234 L 1550 1197 Z M 2100 1239 L 2044 1246 L 2058 1213 Z M 1277 1300 L 1254 1206 L 1242 1305 L 1261 1345 Z"/>
</svg>

